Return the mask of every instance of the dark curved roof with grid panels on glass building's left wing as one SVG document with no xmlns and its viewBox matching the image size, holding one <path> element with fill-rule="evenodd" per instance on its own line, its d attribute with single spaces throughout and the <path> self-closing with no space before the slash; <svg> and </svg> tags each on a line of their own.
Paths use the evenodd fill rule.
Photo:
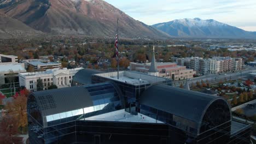
<svg viewBox="0 0 256 144">
<path fill-rule="evenodd" d="M 31 93 L 35 96 L 42 116 L 93 106 L 91 96 L 84 87 L 68 87 Z"/>
</svg>

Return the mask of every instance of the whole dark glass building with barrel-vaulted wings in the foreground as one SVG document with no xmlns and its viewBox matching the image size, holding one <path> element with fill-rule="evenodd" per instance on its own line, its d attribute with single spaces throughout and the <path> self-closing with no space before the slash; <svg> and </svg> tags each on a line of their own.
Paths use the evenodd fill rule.
<svg viewBox="0 0 256 144">
<path fill-rule="evenodd" d="M 83 77 L 82 77 L 83 78 Z M 221 97 L 131 71 L 92 74 L 90 85 L 33 92 L 31 143 L 249 143 L 251 125 Z"/>
</svg>

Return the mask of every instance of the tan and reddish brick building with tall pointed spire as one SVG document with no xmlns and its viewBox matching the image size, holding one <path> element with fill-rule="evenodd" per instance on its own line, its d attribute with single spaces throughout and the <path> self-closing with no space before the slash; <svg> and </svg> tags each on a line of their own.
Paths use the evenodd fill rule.
<svg viewBox="0 0 256 144">
<path fill-rule="evenodd" d="M 187 69 L 185 66 L 180 66 L 176 63 L 155 62 L 154 52 L 151 63 L 131 62 L 130 70 L 159 77 L 166 77 L 172 80 L 191 79 L 196 74 L 193 69 Z"/>
</svg>

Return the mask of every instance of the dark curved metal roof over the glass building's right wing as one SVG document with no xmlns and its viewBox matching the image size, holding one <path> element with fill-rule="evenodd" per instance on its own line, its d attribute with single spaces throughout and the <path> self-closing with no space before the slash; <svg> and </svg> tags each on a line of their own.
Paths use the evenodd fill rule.
<svg viewBox="0 0 256 144">
<path fill-rule="evenodd" d="M 142 93 L 141 104 L 200 124 L 207 108 L 219 99 L 224 100 L 221 97 L 187 89 L 156 85 Z M 224 101 L 228 105 L 226 100 Z"/>
</svg>

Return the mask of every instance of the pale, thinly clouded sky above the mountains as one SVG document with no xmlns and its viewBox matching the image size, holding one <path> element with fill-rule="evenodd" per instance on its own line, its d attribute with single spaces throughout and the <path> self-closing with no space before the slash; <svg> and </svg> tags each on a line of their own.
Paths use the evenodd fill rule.
<svg viewBox="0 0 256 144">
<path fill-rule="evenodd" d="M 147 25 L 176 19 L 214 19 L 256 32 L 256 0 L 105 0 Z"/>
</svg>

